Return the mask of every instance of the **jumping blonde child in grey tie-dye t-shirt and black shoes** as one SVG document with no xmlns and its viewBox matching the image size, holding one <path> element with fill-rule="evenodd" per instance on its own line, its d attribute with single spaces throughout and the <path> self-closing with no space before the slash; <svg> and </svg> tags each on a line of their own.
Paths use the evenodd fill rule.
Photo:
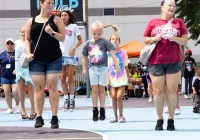
<svg viewBox="0 0 200 140">
<path fill-rule="evenodd" d="M 82 73 L 86 76 L 86 62 L 89 58 L 89 78 L 92 86 L 92 104 L 93 104 L 93 121 L 105 120 L 105 86 L 108 75 L 108 57 L 107 52 L 110 53 L 115 65 L 116 71 L 119 73 L 119 63 L 114 54 L 115 47 L 113 44 L 102 38 L 104 26 L 101 22 L 95 21 L 91 25 L 92 39 L 88 40 L 82 51 Z M 98 98 L 100 100 L 100 117 L 97 108 Z"/>
</svg>

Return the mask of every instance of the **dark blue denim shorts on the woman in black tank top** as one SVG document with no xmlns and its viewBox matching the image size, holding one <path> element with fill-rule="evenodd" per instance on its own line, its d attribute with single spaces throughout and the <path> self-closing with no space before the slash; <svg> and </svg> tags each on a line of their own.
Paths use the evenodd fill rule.
<svg viewBox="0 0 200 140">
<path fill-rule="evenodd" d="M 31 75 L 46 75 L 51 73 L 61 73 L 62 57 L 52 62 L 31 61 L 29 64 Z"/>
</svg>

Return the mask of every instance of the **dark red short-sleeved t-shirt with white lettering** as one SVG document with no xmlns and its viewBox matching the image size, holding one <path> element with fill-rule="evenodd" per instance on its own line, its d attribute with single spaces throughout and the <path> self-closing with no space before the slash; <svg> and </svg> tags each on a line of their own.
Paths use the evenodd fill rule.
<svg viewBox="0 0 200 140">
<path fill-rule="evenodd" d="M 144 32 L 145 37 L 154 37 L 160 34 L 168 20 L 161 18 L 152 19 Z M 179 44 L 167 39 L 168 34 L 181 37 L 184 34 L 188 34 L 187 28 L 182 19 L 175 18 L 168 29 L 162 35 L 162 39 L 157 43 L 154 49 L 149 64 L 171 64 L 175 62 L 181 62 L 181 52 Z"/>
</svg>

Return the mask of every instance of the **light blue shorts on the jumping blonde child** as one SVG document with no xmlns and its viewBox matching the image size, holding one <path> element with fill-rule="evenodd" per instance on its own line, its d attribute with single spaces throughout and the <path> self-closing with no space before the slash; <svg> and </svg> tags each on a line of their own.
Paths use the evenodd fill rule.
<svg viewBox="0 0 200 140">
<path fill-rule="evenodd" d="M 106 80 L 108 77 L 107 66 L 91 66 L 89 68 L 90 84 L 106 86 Z"/>
</svg>

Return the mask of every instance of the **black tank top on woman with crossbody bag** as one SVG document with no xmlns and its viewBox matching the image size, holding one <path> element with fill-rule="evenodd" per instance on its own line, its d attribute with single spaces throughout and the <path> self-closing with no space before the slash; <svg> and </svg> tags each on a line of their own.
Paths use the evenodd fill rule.
<svg viewBox="0 0 200 140">
<path fill-rule="evenodd" d="M 58 32 L 58 28 L 53 21 L 54 17 L 55 16 L 51 16 L 46 25 L 49 24 L 53 31 Z M 43 25 L 44 23 L 35 22 L 35 17 L 33 17 L 31 26 L 31 53 L 33 53 L 35 49 Z M 62 52 L 60 50 L 59 41 L 54 37 L 51 37 L 48 33 L 45 32 L 45 30 L 43 30 L 34 54 L 34 60 L 51 62 L 60 57 L 62 57 Z"/>
</svg>

